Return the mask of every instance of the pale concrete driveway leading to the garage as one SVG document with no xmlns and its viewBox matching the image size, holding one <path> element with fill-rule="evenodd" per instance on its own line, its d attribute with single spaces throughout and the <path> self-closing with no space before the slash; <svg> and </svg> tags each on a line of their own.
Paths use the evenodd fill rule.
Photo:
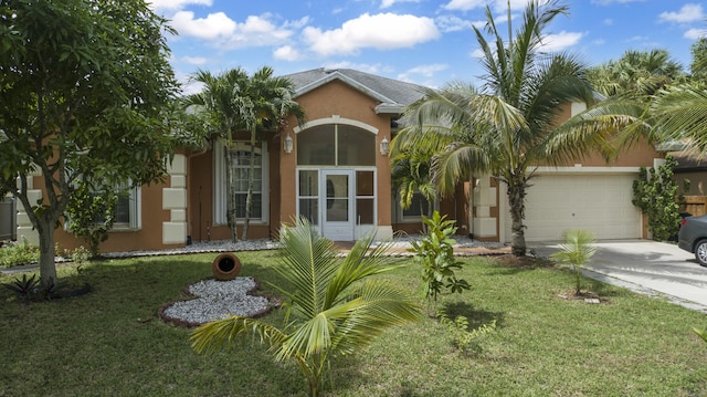
<svg viewBox="0 0 707 397">
<path fill-rule="evenodd" d="M 528 245 L 542 257 L 558 250 L 557 242 Z M 692 253 L 651 240 L 601 241 L 597 248 L 584 275 L 707 313 L 707 268 Z"/>
</svg>

